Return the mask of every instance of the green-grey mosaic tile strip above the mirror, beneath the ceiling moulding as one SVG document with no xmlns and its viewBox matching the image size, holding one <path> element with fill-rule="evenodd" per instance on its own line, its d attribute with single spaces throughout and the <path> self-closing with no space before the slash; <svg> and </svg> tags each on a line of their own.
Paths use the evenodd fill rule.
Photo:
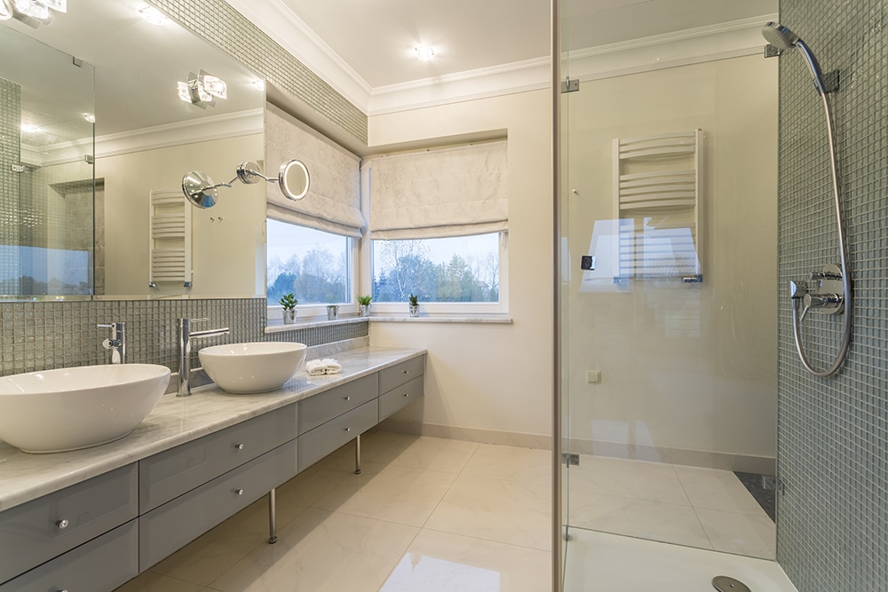
<svg viewBox="0 0 888 592">
<path fill-rule="evenodd" d="M 151 0 L 149 4 L 367 143 L 367 115 L 224 0 Z"/>
</svg>

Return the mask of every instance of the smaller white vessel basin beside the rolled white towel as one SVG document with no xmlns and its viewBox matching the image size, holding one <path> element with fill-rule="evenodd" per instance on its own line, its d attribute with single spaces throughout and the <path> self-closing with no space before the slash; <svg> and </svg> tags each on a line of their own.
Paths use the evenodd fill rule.
<svg viewBox="0 0 888 592">
<path fill-rule="evenodd" d="M 305 361 L 305 343 L 231 343 L 197 352 L 203 369 L 225 391 L 245 395 L 276 391 Z"/>
</svg>

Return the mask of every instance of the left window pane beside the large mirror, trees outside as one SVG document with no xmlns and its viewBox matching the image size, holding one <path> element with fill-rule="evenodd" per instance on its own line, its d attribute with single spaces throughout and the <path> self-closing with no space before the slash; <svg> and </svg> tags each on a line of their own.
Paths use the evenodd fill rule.
<svg viewBox="0 0 888 592">
<path fill-rule="evenodd" d="M 300 305 L 349 303 L 354 292 L 352 240 L 305 226 L 267 221 L 269 306 L 292 292 Z"/>
</svg>

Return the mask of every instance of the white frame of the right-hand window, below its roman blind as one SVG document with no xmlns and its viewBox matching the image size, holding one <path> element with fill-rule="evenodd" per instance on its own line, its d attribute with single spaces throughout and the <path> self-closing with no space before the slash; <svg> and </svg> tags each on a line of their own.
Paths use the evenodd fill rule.
<svg viewBox="0 0 888 592">
<path fill-rule="evenodd" d="M 369 270 L 361 283 L 362 294 L 370 294 L 376 270 L 373 249 L 368 240 Z M 509 312 L 509 232 L 499 233 L 499 302 L 423 302 L 419 301 L 419 313 L 424 316 L 502 315 Z M 371 314 L 382 316 L 408 316 L 408 303 L 377 303 L 370 306 Z"/>
</svg>

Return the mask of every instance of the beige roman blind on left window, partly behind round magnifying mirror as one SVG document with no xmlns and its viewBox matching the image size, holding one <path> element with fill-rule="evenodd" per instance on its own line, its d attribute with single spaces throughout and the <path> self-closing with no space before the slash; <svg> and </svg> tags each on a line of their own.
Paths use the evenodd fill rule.
<svg viewBox="0 0 888 592">
<path fill-rule="evenodd" d="M 268 184 L 268 217 L 327 233 L 360 238 L 361 160 L 304 123 L 266 103 L 266 175 L 281 163 L 305 162 L 311 185 L 299 201 L 287 199 L 276 183 Z"/>
</svg>

